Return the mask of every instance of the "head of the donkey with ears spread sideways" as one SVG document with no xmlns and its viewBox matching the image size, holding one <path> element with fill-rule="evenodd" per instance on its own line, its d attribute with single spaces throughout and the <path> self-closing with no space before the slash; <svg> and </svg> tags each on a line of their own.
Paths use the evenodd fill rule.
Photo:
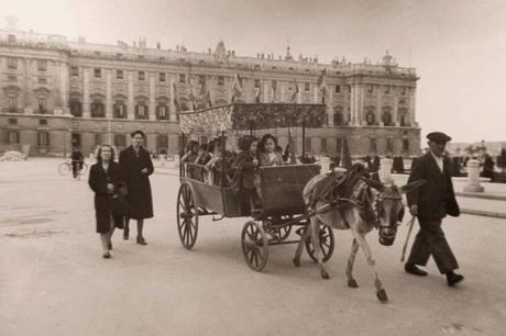
<svg viewBox="0 0 506 336">
<path fill-rule="evenodd" d="M 397 235 L 398 223 L 404 216 L 403 193 L 409 192 L 425 183 L 424 180 L 415 181 L 403 187 L 392 183 L 382 183 L 365 180 L 373 189 L 377 190 L 374 206 L 377 214 L 380 244 L 391 246 Z"/>
</svg>

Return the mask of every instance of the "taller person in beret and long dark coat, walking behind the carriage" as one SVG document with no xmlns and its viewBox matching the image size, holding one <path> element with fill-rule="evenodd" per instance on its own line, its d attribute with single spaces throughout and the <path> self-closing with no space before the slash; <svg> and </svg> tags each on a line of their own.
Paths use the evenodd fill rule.
<svg viewBox="0 0 506 336">
<path fill-rule="evenodd" d="M 146 245 L 142 235 L 144 219 L 153 217 L 153 201 L 151 197 L 150 175 L 153 173 L 153 163 L 150 153 L 142 147 L 144 132 L 135 131 L 130 134 L 132 145 L 120 154 L 120 166 L 123 169 L 129 194 L 130 214 L 127 217 L 123 238 L 129 238 L 129 221 L 138 221 L 138 244 Z"/>
</svg>

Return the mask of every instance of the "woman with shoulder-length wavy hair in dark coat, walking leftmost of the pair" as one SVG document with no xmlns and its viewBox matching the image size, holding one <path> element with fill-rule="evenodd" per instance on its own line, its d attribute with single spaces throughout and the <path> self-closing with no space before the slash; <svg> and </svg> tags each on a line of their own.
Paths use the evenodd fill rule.
<svg viewBox="0 0 506 336">
<path fill-rule="evenodd" d="M 111 237 L 114 227 L 123 228 L 123 215 L 112 214 L 112 199 L 118 198 L 124 186 L 120 165 L 114 163 L 114 150 L 109 145 L 100 146 L 97 164 L 89 171 L 89 187 L 95 191 L 97 233 L 103 247 L 103 258 L 110 258 Z"/>
</svg>

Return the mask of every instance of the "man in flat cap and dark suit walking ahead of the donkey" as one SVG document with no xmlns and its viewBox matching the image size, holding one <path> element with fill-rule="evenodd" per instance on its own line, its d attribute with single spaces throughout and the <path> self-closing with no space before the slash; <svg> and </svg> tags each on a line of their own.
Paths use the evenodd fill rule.
<svg viewBox="0 0 506 336">
<path fill-rule="evenodd" d="M 451 137 L 441 132 L 432 132 L 427 138 L 429 150 L 418 159 L 408 179 L 408 183 L 416 180 L 426 180 L 426 183 L 407 193 L 409 211 L 418 217 L 420 231 L 413 244 L 405 270 L 411 275 L 427 276 L 417 266 L 426 266 L 432 255 L 439 271 L 447 276 L 448 285 L 455 285 L 464 277 L 454 272 L 459 265 L 441 229 L 442 219 L 447 214 L 460 215 L 450 177 L 451 164 L 444 156 L 447 142 Z"/>
</svg>

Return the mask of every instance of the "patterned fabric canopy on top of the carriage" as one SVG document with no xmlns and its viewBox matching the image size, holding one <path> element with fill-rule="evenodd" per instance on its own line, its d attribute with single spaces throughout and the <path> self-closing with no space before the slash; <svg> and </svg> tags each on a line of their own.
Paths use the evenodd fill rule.
<svg viewBox="0 0 506 336">
<path fill-rule="evenodd" d="M 324 104 L 233 103 L 183 112 L 179 125 L 184 133 L 211 133 L 273 127 L 322 127 Z"/>
</svg>

